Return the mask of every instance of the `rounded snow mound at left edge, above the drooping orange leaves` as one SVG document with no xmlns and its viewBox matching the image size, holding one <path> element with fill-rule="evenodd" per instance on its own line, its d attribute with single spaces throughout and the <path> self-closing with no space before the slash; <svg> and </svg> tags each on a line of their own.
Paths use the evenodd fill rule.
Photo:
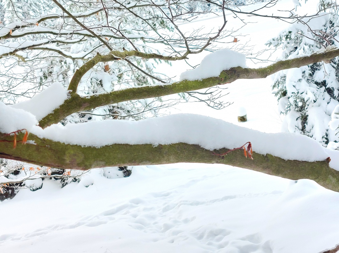
<svg viewBox="0 0 339 253">
<path fill-rule="evenodd" d="M 6 106 L 0 101 L 0 132 L 11 133 L 20 129 L 30 130 L 37 124 L 35 116 L 22 109 Z"/>
</svg>

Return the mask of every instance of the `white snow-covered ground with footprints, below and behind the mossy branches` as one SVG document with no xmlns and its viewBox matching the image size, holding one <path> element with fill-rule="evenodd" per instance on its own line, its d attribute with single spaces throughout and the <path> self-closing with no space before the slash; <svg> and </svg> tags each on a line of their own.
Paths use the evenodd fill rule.
<svg viewBox="0 0 339 253">
<path fill-rule="evenodd" d="M 270 20 L 245 28 L 259 45 L 284 25 Z M 175 64 L 174 75 L 187 69 Z M 225 109 L 191 103 L 173 113 L 280 132 L 282 118 L 270 84 L 270 78 L 238 80 L 227 84 L 225 98 L 234 103 Z M 248 122 L 237 122 L 239 107 L 246 108 Z M 1 202 L 0 250 L 318 253 L 339 244 L 338 203 L 339 193 L 313 181 L 225 165 L 134 166 L 130 177 L 115 179 L 93 169 L 80 183 L 61 189 L 58 181 L 46 179 L 42 189 L 22 189 Z"/>
</svg>

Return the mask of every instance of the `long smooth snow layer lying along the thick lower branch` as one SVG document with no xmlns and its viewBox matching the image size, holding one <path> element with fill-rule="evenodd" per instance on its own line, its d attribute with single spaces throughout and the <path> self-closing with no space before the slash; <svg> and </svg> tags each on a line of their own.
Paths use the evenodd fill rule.
<svg viewBox="0 0 339 253">
<path fill-rule="evenodd" d="M 183 142 L 213 150 L 238 148 L 250 141 L 255 152 L 286 160 L 323 161 L 329 156 L 317 141 L 304 135 L 263 133 L 196 114 L 175 114 L 142 121 L 105 120 L 52 125 L 44 130 L 37 127 L 33 133 L 41 138 L 81 146 L 157 146 Z"/>
</svg>

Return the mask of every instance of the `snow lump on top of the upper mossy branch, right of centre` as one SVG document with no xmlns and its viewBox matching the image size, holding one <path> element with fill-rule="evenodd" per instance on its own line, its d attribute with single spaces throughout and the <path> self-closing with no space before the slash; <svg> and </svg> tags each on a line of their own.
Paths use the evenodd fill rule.
<svg viewBox="0 0 339 253">
<path fill-rule="evenodd" d="M 207 55 L 195 69 L 181 73 L 180 80 L 194 81 L 218 77 L 222 70 L 233 67 L 246 68 L 245 55 L 230 49 L 220 49 Z"/>
</svg>

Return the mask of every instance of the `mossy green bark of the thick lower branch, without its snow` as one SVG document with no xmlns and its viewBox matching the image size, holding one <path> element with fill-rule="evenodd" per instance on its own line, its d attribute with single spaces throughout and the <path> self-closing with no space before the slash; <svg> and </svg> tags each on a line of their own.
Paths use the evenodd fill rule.
<svg viewBox="0 0 339 253">
<path fill-rule="evenodd" d="M 22 138 L 23 134 L 19 134 L 17 137 L 18 140 Z M 108 166 L 181 162 L 227 164 L 292 180 L 308 178 L 327 189 L 339 191 L 339 172 L 330 168 L 326 161 L 286 161 L 270 154 L 262 155 L 255 152 L 253 153 L 254 160 L 251 160 L 244 157 L 242 150 L 235 150 L 227 155 L 219 156 L 214 153 L 225 153 L 227 149 L 212 152 L 198 145 L 186 143 L 156 147 L 149 144 L 113 144 L 95 148 L 40 139 L 34 134 L 30 134 L 29 139 L 36 145 L 18 143 L 14 149 L 13 142 L 11 142 L 13 136 L 0 134 L 0 158 L 25 161 L 41 166 L 80 170 Z"/>
</svg>

